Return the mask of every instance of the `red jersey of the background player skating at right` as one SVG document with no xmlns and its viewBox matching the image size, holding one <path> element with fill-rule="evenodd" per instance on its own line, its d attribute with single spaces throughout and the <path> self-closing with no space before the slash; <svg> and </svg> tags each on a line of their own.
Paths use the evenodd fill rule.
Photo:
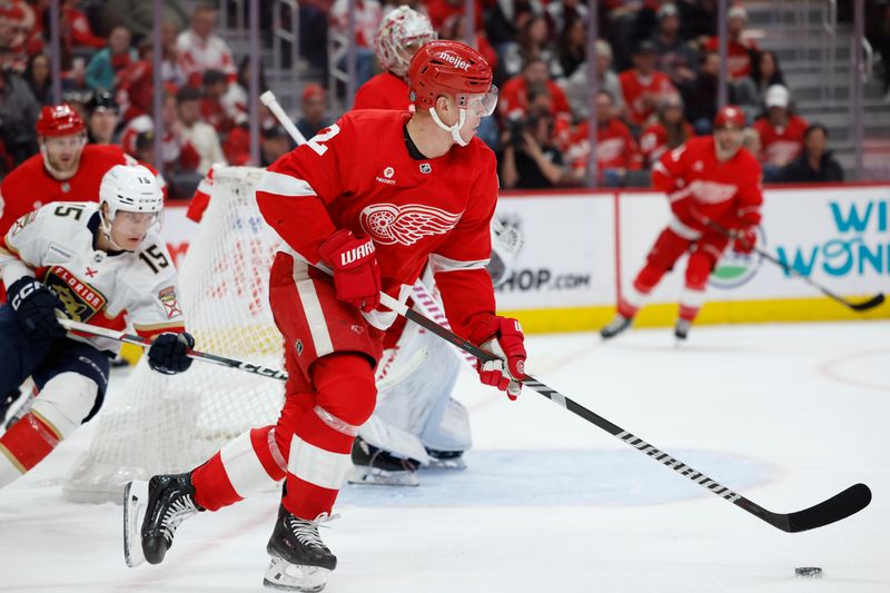
<svg viewBox="0 0 890 593">
<path fill-rule="evenodd" d="M 726 161 L 719 160 L 713 136 L 692 138 L 665 152 L 652 167 L 652 185 L 668 194 L 676 216 L 672 228 L 680 235 L 712 230 L 705 219 L 725 227 L 760 219 L 760 164 L 744 148 Z"/>
</svg>

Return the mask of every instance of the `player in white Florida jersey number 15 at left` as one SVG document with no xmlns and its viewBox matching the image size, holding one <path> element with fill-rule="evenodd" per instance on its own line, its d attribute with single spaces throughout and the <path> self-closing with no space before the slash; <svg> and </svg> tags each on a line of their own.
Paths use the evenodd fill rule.
<svg viewBox="0 0 890 593">
<path fill-rule="evenodd" d="M 32 377 L 40 395 L 0 436 L 0 487 L 24 474 L 99 411 L 120 344 L 66 334 L 58 316 L 152 338 L 148 363 L 191 364 L 170 255 L 157 234 L 164 194 L 142 166 L 117 165 L 99 204 L 48 204 L 0 239 L 0 393 Z"/>
</svg>

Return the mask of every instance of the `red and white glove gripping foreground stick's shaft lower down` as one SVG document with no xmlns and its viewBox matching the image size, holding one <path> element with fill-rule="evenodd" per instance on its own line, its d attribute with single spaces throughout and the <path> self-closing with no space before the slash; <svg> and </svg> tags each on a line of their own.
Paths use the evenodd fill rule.
<svg viewBox="0 0 890 593">
<path fill-rule="evenodd" d="M 520 322 L 507 317 L 491 317 L 469 336 L 471 342 L 500 358 L 476 363 L 479 379 L 485 385 L 506 392 L 511 399 L 520 395 L 521 382 L 525 378 L 524 339 Z"/>
</svg>

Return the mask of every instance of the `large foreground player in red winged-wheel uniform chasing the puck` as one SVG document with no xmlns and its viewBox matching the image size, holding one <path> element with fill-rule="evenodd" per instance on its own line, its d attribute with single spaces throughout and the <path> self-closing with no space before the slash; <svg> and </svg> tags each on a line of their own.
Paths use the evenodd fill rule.
<svg viewBox="0 0 890 593">
<path fill-rule="evenodd" d="M 454 330 L 498 357 L 478 367 L 482 382 L 518 395 L 523 334 L 495 314 L 485 270 L 495 157 L 474 138 L 497 100 L 492 70 L 463 43 L 433 41 L 412 60 L 409 79 L 413 115 L 350 111 L 261 177 L 260 211 L 286 244 L 269 281 L 290 376 L 280 417 L 187 474 L 129 484 L 126 516 L 145 511 L 140 531 L 125 521 L 130 564 L 139 553 L 161 562 L 195 512 L 286 477 L 265 584 L 324 586 L 336 557 L 318 525 L 352 468 L 357 428 L 374 411 L 374 367 L 396 318 L 378 305 L 379 291 L 404 303 L 427 260 Z"/>
</svg>

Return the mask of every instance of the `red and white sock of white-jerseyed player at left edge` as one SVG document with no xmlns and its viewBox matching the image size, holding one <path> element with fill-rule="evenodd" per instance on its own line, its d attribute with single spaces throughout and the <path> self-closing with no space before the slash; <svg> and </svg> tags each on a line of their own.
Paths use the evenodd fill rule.
<svg viewBox="0 0 890 593">
<path fill-rule="evenodd" d="M 16 481 L 52 453 L 62 435 L 29 412 L 0 436 L 0 487 Z"/>
</svg>

